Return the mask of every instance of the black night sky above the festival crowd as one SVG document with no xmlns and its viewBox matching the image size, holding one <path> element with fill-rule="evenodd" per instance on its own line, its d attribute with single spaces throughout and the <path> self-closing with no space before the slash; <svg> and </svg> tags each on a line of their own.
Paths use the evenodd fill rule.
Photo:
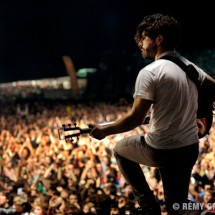
<svg viewBox="0 0 215 215">
<path fill-rule="evenodd" d="M 184 26 L 181 49 L 214 49 L 212 1 L 188 2 L 0 0 L 0 82 L 65 76 L 62 55 L 78 70 L 97 67 L 108 51 L 136 52 L 136 26 L 157 12 Z"/>
</svg>

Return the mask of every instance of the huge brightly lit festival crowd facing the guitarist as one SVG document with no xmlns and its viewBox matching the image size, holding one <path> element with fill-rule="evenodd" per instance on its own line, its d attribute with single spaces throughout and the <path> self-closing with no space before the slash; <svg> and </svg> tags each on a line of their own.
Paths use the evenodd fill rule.
<svg viewBox="0 0 215 215">
<path fill-rule="evenodd" d="M 118 170 L 112 149 L 126 135 L 144 134 L 147 125 L 101 141 L 88 134 L 65 138 L 89 124 L 115 121 L 128 102 L 13 103 L 0 111 L 0 214 L 126 215 L 137 207 L 130 185 Z M 59 131 L 60 135 L 59 135 Z M 215 202 L 215 124 L 200 139 L 189 199 Z M 183 158 L 181 158 L 183 159 Z M 165 212 L 156 168 L 142 165 L 150 188 Z"/>
</svg>

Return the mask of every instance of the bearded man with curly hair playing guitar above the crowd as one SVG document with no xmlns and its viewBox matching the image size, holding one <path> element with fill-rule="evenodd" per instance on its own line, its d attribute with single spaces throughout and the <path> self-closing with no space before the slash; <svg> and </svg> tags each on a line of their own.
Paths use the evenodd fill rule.
<svg viewBox="0 0 215 215">
<path fill-rule="evenodd" d="M 188 202 L 191 171 L 199 154 L 198 91 L 177 64 L 162 57 L 174 56 L 186 65 L 192 64 L 199 73 L 200 82 L 208 75 L 176 52 L 181 36 L 181 24 L 174 17 L 146 16 L 137 27 L 135 41 L 143 57 L 153 62 L 141 69 L 137 76 L 133 106 L 114 123 L 92 125 L 90 135 L 100 140 L 140 126 L 150 112 L 148 132 L 125 137 L 113 149 L 118 167 L 140 206 L 131 214 L 161 214 L 140 164 L 158 168 L 169 214 L 201 213 L 180 210 Z"/>
</svg>

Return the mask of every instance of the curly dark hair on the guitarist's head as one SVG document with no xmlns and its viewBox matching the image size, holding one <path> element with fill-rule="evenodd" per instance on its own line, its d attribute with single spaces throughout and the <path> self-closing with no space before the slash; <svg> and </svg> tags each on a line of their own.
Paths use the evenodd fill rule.
<svg viewBox="0 0 215 215">
<path fill-rule="evenodd" d="M 135 35 L 137 44 L 140 42 L 143 32 L 152 39 L 162 35 L 164 38 L 162 46 L 174 49 L 180 44 L 182 26 L 174 17 L 157 13 L 144 17 L 143 21 L 137 26 Z"/>
</svg>

